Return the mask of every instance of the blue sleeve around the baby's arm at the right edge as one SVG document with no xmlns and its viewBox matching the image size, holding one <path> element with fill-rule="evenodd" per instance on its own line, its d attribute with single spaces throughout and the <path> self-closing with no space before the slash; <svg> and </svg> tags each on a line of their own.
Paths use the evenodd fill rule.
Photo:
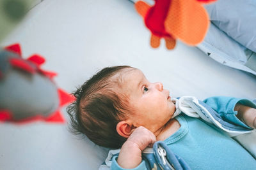
<svg viewBox="0 0 256 170">
<path fill-rule="evenodd" d="M 241 120 L 239 120 L 236 117 L 237 111 L 234 111 L 234 108 L 237 103 L 241 103 L 245 106 L 256 108 L 256 104 L 252 101 L 248 99 L 241 99 L 235 97 L 214 96 L 205 99 L 204 103 L 209 105 L 213 110 L 219 113 L 223 120 L 231 124 L 236 124 L 242 127 L 250 128 L 248 127 L 248 125 L 244 124 Z"/>
</svg>

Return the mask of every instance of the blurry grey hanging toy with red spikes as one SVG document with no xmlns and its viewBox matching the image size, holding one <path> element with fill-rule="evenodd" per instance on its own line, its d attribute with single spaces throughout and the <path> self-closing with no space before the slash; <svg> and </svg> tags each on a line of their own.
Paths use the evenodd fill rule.
<svg viewBox="0 0 256 170">
<path fill-rule="evenodd" d="M 22 59 L 19 44 L 0 50 L 0 122 L 65 122 L 60 109 L 74 97 L 56 87 L 57 74 L 42 69 L 44 62 L 37 54 Z"/>
</svg>

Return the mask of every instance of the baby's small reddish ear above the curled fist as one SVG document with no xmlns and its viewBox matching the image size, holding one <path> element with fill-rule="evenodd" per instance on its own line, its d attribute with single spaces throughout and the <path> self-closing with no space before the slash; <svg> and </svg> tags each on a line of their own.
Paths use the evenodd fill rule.
<svg viewBox="0 0 256 170">
<path fill-rule="evenodd" d="M 124 138 L 128 138 L 132 134 L 132 129 L 135 129 L 134 125 L 130 125 L 125 120 L 122 120 L 121 122 L 118 122 L 116 125 L 116 131 L 120 136 L 123 136 Z"/>
</svg>

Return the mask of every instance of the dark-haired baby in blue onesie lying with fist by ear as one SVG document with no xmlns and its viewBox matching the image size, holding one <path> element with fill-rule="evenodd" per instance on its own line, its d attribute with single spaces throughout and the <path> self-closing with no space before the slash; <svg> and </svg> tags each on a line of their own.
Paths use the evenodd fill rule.
<svg viewBox="0 0 256 170">
<path fill-rule="evenodd" d="M 145 169 L 141 152 L 164 141 L 191 169 L 253 169 L 256 161 L 234 139 L 200 118 L 176 111 L 170 92 L 150 83 L 134 67 L 106 67 L 86 81 L 68 106 L 72 131 L 95 144 L 121 148 L 112 169 Z M 256 105 L 246 99 L 210 97 L 204 101 L 223 120 L 256 127 Z"/>
</svg>

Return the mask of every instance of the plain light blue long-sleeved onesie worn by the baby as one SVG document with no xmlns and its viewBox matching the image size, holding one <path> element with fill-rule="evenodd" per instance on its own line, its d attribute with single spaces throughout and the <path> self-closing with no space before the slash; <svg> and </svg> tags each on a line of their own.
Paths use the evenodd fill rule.
<svg viewBox="0 0 256 170">
<path fill-rule="evenodd" d="M 236 118 L 236 103 L 256 108 L 246 99 L 234 97 L 210 97 L 204 103 L 220 114 L 223 120 L 250 128 Z M 175 117 L 180 129 L 164 140 L 173 153 L 182 157 L 191 169 L 255 169 L 256 160 L 243 146 L 225 132 L 200 118 L 188 117 L 184 113 Z M 111 169 L 118 166 L 117 156 L 113 157 Z M 146 169 L 144 160 L 134 169 Z"/>
</svg>

